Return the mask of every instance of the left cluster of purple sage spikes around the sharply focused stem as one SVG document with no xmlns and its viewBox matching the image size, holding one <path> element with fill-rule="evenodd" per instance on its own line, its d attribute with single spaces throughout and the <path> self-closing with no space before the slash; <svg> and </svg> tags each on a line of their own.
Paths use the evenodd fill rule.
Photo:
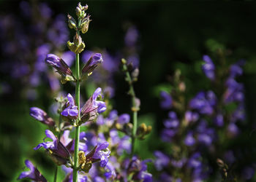
<svg viewBox="0 0 256 182">
<path fill-rule="evenodd" d="M 144 140 L 152 130 L 151 126 L 144 123 L 137 127 L 140 100 L 136 98 L 132 84 L 138 80 L 139 61 L 137 49 L 135 49 L 138 31 L 133 26 L 128 29 L 125 44 L 127 56 L 130 58 L 128 62 L 121 61 L 131 90 L 129 95 L 132 98 L 132 120 L 129 114 L 118 114 L 118 111 L 110 105 L 110 98 L 113 96 L 111 80 L 113 74 L 118 71 L 119 62 L 114 63 L 116 60 L 110 58 L 106 52 L 101 54 L 86 51 L 82 56 L 84 66 L 80 68 L 79 54 L 85 49 L 80 33 L 86 33 L 91 22 L 90 16 L 86 14 L 87 9 L 87 5 L 82 6 L 79 3 L 76 7 L 78 20 L 67 15 L 68 26 L 76 33 L 72 42 L 67 41 L 70 51 L 65 53 L 65 56 L 49 54 L 50 49 L 44 44 L 39 47 L 40 59 L 45 60 L 42 66 L 45 68 L 47 64 L 56 70 L 56 76 L 59 76 L 61 84 L 69 82 L 70 85 L 75 85 L 75 97 L 67 93 L 65 98 L 61 96 L 55 99 L 56 105 L 59 106 L 57 111 L 59 119 L 56 119 L 56 114 L 47 114 L 41 108 L 30 108 L 30 115 L 49 127 L 49 130 L 45 130 L 42 143 L 35 146 L 34 150 L 45 150 L 56 164 L 54 181 L 57 181 L 60 165 L 66 173 L 64 181 L 129 181 L 129 179 L 152 181 L 152 175 L 147 170 L 147 163 L 151 160 L 143 160 L 135 155 L 135 141 Z M 74 58 L 75 71 L 71 67 Z M 99 66 L 101 64 L 102 66 Z M 130 73 L 130 68 L 132 68 L 132 73 Z M 108 71 L 109 77 L 105 77 L 108 80 L 107 85 L 104 85 L 105 92 L 98 87 L 83 102 L 83 97 L 80 97 L 80 84 L 85 80 L 87 82 L 90 78 L 89 82 L 98 84 L 97 76 L 101 74 L 101 71 L 97 70 L 100 69 Z M 101 76 L 99 77 L 102 82 L 105 82 L 103 79 L 105 74 Z M 107 97 L 104 97 L 105 95 Z M 83 104 L 80 104 L 80 101 Z M 80 129 L 83 131 L 80 132 Z M 72 138 L 74 132 L 75 138 Z M 30 171 L 21 173 L 18 179 L 46 181 L 31 162 L 26 160 L 25 163 Z"/>
</svg>

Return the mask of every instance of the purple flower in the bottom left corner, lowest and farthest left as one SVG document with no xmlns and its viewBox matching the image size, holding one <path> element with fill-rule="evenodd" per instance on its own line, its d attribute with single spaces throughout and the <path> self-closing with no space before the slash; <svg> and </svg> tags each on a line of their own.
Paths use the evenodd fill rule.
<svg viewBox="0 0 256 182">
<path fill-rule="evenodd" d="M 29 179 L 31 179 L 33 181 L 42 181 L 42 182 L 46 182 L 47 181 L 45 179 L 45 177 L 43 175 L 41 175 L 39 170 L 37 170 L 37 167 L 34 167 L 32 162 L 30 162 L 29 160 L 26 160 L 25 161 L 25 165 L 26 165 L 26 167 L 29 167 L 30 171 L 22 172 L 20 174 L 20 176 L 18 177 L 18 180 L 20 180 L 22 178 L 29 178 Z"/>
</svg>

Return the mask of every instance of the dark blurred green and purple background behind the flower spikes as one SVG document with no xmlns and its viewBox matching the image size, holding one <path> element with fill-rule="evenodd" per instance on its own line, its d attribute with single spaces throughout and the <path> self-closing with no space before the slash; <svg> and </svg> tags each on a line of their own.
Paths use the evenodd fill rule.
<svg viewBox="0 0 256 182">
<path fill-rule="evenodd" d="M 39 84 L 31 86 L 31 83 L 37 83 L 31 81 L 36 68 L 31 65 L 39 59 L 38 47 L 45 41 L 52 50 L 67 51 L 65 39 L 72 39 L 73 34 L 69 34 L 67 24 L 58 20 L 65 22 L 67 13 L 75 16 L 74 9 L 78 4 L 78 1 L 25 2 L 29 2 L 30 7 L 24 1 L 0 1 L 1 181 L 15 181 L 23 170 L 24 159 L 37 162 L 45 176 L 54 169 L 53 162 L 43 151 L 32 149 L 42 141 L 47 127 L 29 116 L 29 108 L 38 106 L 50 111 L 56 92 L 49 91 L 52 86 L 44 74 L 39 75 Z M 210 84 L 200 69 L 202 56 L 211 55 L 213 47 L 225 47 L 230 52 L 231 62 L 241 58 L 246 60 L 239 81 L 245 86 L 247 125 L 236 145 L 250 149 L 245 161 L 255 161 L 256 4 L 229 1 L 85 3 L 89 4 L 88 12 L 93 20 L 89 32 L 83 35 L 86 49 L 108 52 L 116 59 L 127 57 L 124 41 L 127 29 L 133 26 L 138 30 L 136 52 L 140 60 L 140 75 L 135 91 L 141 101 L 139 122 L 153 126 L 149 138 L 138 144 L 143 146 L 138 153 L 143 154 L 144 159 L 154 158 L 153 151 L 165 148 L 159 133 L 167 112 L 159 106 L 159 90 L 168 87 L 177 68 L 187 84 L 187 98 L 192 98 L 200 90 L 207 90 Z M 60 14 L 64 17 L 59 17 Z M 53 32 L 52 36 L 48 31 Z M 59 33 L 63 33 L 63 37 L 55 39 L 54 35 Z M 29 71 L 23 68 L 23 63 L 29 63 Z M 118 64 L 118 61 L 114 63 Z M 115 70 L 113 82 L 116 87 L 113 108 L 120 113 L 129 113 L 130 98 L 124 74 Z M 72 85 L 61 87 L 67 92 L 73 89 Z M 91 87 L 94 86 L 86 85 L 82 92 L 89 94 Z M 149 171 L 154 171 L 154 167 L 150 166 Z"/>
</svg>

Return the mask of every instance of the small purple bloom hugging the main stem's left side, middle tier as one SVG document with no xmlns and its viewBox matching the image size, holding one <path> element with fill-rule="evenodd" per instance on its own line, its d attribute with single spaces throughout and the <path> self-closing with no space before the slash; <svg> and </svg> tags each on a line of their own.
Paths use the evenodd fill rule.
<svg viewBox="0 0 256 182">
<path fill-rule="evenodd" d="M 66 108 L 61 112 L 62 116 L 69 117 L 69 119 L 76 119 L 78 117 L 78 106 L 75 106 L 75 100 L 71 94 L 67 95 Z"/>
</svg>

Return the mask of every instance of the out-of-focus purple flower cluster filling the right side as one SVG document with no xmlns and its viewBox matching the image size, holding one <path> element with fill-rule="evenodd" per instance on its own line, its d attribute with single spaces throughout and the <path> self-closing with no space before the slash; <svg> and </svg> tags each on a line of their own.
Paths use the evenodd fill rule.
<svg viewBox="0 0 256 182">
<path fill-rule="evenodd" d="M 176 89 L 160 93 L 161 107 L 170 109 L 161 136 L 162 141 L 171 143 L 172 153 L 154 153 L 155 168 L 161 172 L 159 181 L 205 181 L 210 176 L 213 179 L 219 169 L 223 179 L 248 179 L 242 173 L 235 177 L 228 170 L 238 159 L 234 151 L 219 149 L 225 140 L 238 138 L 238 124 L 245 119 L 244 87 L 236 81 L 243 73 L 244 60 L 227 65 L 228 73 L 216 69 L 208 55 L 203 56 L 203 61 L 202 70 L 214 85 L 212 90 L 197 92 L 191 100 L 184 100 L 185 87 L 180 87 L 184 82 L 176 76 Z M 213 161 L 219 169 L 213 167 Z M 251 166 L 249 171 L 254 173 Z"/>
</svg>

